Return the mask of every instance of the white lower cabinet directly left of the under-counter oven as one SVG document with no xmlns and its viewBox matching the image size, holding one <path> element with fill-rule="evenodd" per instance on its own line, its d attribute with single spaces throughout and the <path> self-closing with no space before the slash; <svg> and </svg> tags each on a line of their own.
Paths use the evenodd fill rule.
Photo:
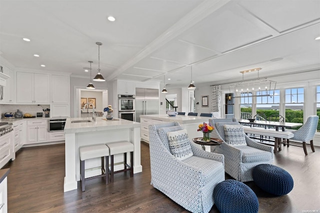
<svg viewBox="0 0 320 213">
<path fill-rule="evenodd" d="M 26 143 L 46 142 L 47 140 L 47 120 L 28 120 L 26 123 Z"/>
</svg>

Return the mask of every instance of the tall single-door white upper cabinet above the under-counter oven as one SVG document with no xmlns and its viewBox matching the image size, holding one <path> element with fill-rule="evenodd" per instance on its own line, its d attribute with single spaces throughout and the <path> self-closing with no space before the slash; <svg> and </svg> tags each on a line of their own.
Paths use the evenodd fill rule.
<svg viewBox="0 0 320 213">
<path fill-rule="evenodd" d="M 51 75 L 51 103 L 69 103 L 69 76 Z"/>
</svg>

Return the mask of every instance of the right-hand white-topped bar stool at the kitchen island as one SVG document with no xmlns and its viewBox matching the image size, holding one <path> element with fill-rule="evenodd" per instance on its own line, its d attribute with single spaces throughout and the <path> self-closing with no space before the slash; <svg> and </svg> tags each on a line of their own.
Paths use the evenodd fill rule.
<svg viewBox="0 0 320 213">
<path fill-rule="evenodd" d="M 110 182 L 113 182 L 113 174 L 119 173 L 122 171 L 130 170 L 130 177 L 133 177 L 133 144 L 128 141 L 117 141 L 117 142 L 110 142 L 105 143 L 109 147 L 110 151 L 110 169 L 108 171 L 110 173 Z M 126 163 L 126 152 L 130 152 L 130 165 Z M 123 153 L 123 165 L 124 168 L 122 170 L 114 171 L 114 162 L 113 162 L 113 155 Z"/>
</svg>

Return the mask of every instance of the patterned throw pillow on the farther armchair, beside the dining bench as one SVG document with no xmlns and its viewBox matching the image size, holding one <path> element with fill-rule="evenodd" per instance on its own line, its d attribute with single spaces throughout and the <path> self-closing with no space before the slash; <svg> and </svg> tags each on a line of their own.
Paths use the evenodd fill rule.
<svg viewBox="0 0 320 213">
<path fill-rule="evenodd" d="M 224 125 L 225 142 L 237 146 L 246 145 L 242 125 Z"/>
</svg>

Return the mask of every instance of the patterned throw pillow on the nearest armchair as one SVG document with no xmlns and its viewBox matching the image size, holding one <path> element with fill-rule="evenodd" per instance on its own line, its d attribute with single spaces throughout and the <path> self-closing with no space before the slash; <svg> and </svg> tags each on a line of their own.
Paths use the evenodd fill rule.
<svg viewBox="0 0 320 213">
<path fill-rule="evenodd" d="M 188 134 L 185 129 L 168 132 L 169 148 L 173 156 L 179 160 L 193 155 Z"/>
</svg>

